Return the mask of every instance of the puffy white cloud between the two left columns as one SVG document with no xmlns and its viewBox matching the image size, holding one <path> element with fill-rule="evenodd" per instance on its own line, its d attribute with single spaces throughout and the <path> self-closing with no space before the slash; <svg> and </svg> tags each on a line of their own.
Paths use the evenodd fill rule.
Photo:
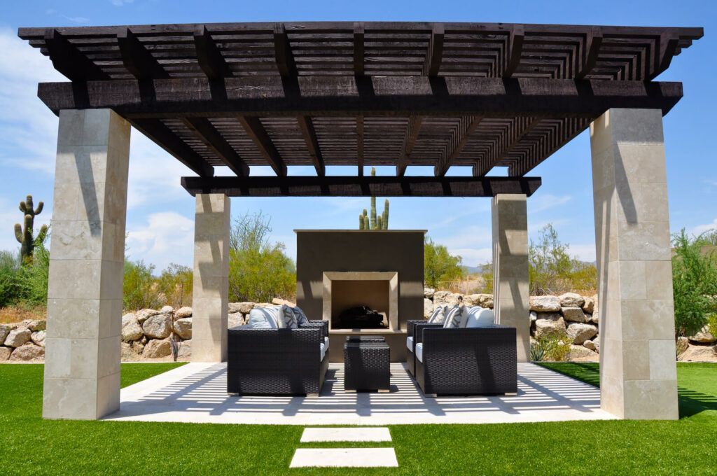
<svg viewBox="0 0 717 476">
<path fill-rule="evenodd" d="M 146 223 L 128 227 L 130 260 L 144 260 L 161 271 L 170 263 L 191 266 L 194 254 L 194 220 L 174 211 L 150 214 Z"/>
</svg>

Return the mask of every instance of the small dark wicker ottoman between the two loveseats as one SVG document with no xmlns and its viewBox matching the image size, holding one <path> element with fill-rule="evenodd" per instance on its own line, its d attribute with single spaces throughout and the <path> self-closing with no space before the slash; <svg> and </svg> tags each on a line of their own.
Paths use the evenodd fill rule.
<svg viewBox="0 0 717 476">
<path fill-rule="evenodd" d="M 344 390 L 390 390 L 391 351 L 384 338 L 346 338 L 343 345 L 343 365 Z"/>
</svg>

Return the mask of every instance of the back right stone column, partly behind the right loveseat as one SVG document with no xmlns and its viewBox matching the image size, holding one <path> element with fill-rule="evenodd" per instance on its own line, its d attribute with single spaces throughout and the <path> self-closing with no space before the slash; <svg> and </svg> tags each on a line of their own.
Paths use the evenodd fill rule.
<svg viewBox="0 0 717 476">
<path fill-rule="evenodd" d="M 524 194 L 493 197 L 493 307 L 495 322 L 516 328 L 518 362 L 531 346 L 528 289 L 528 212 Z"/>
</svg>

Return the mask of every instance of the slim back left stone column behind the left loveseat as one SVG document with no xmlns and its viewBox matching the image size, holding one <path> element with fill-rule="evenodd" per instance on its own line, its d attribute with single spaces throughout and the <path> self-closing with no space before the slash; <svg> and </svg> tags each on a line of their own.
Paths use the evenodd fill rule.
<svg viewBox="0 0 717 476">
<path fill-rule="evenodd" d="M 229 197 L 196 194 L 191 360 L 227 360 Z"/>
</svg>

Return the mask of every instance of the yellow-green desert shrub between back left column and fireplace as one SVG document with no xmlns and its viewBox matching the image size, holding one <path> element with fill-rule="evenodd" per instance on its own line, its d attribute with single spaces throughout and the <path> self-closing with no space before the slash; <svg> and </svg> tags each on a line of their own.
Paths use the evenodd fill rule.
<svg viewBox="0 0 717 476">
<path fill-rule="evenodd" d="M 282 243 L 270 243 L 270 219 L 259 212 L 234 220 L 229 239 L 229 300 L 293 299 L 296 267 Z"/>
</svg>

